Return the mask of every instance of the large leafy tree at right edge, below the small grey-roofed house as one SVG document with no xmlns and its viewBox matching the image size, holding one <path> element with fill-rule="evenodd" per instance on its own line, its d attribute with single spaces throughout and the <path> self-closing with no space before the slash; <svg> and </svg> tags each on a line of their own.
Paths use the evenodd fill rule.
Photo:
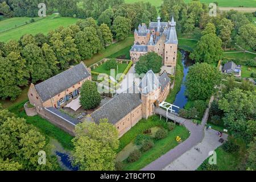
<svg viewBox="0 0 256 182">
<path fill-rule="evenodd" d="M 256 94 L 255 91 L 242 91 L 238 88 L 225 94 L 218 101 L 219 108 L 224 111 L 224 124 L 235 137 L 250 142 L 255 137 Z"/>
</svg>

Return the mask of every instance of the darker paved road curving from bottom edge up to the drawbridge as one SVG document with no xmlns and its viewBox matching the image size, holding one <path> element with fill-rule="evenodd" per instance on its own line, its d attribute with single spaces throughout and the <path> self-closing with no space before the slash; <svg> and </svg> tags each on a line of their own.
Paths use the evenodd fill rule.
<svg viewBox="0 0 256 182">
<path fill-rule="evenodd" d="M 213 101 L 213 97 L 210 98 L 210 103 Z M 166 154 L 160 156 L 154 162 L 148 164 L 142 169 L 142 171 L 160 171 L 168 166 L 170 163 L 174 162 L 175 159 L 179 158 L 192 147 L 200 143 L 204 138 L 204 127 L 209 116 L 209 108 L 205 110 L 204 117 L 202 119 L 201 125 L 196 125 L 190 119 L 185 119 L 183 125 L 189 130 L 190 136 L 187 140 L 180 143 L 178 146 L 168 151 Z M 176 116 L 176 118 L 184 119 Z"/>
</svg>

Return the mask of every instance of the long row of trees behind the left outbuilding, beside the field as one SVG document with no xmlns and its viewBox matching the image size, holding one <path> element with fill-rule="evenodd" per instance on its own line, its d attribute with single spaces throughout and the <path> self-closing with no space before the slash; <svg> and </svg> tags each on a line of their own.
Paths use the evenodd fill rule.
<svg viewBox="0 0 256 182">
<path fill-rule="evenodd" d="M 24 35 L 18 42 L 0 43 L 0 97 L 15 100 L 28 81 L 46 80 L 69 65 L 89 59 L 112 39 L 106 24 L 98 26 L 93 18 L 87 18 L 47 35 Z"/>
</svg>

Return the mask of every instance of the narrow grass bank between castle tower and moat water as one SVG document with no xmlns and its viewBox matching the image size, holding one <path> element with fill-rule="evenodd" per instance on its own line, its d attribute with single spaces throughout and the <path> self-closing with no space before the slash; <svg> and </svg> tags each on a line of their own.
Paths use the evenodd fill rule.
<svg viewBox="0 0 256 182">
<path fill-rule="evenodd" d="M 175 85 L 166 98 L 166 102 L 173 103 L 175 101 L 176 94 L 180 91 L 183 78 L 183 64 L 181 63 L 181 53 L 178 53 L 176 74 L 175 74 Z"/>
</svg>

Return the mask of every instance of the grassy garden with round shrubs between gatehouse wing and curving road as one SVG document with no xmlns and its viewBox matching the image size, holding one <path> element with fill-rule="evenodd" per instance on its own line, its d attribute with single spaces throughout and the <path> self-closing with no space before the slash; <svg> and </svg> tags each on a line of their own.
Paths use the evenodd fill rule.
<svg viewBox="0 0 256 182">
<path fill-rule="evenodd" d="M 188 137 L 185 127 L 157 115 L 142 119 L 119 139 L 116 169 L 142 169 Z"/>
</svg>

